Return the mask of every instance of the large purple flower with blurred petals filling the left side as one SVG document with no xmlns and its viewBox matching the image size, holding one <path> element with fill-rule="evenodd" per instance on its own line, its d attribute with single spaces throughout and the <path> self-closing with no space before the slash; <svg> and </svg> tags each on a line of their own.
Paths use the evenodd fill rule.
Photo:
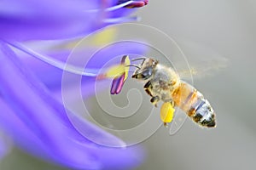
<svg viewBox="0 0 256 170">
<path fill-rule="evenodd" d="M 79 123 L 84 132 L 90 133 L 97 141 L 104 141 L 104 144 L 119 147 L 124 145 L 112 134 L 72 111 L 67 111 L 61 103 L 62 67 L 53 67 L 49 63 L 56 61 L 64 64 L 70 51 L 51 54 L 55 58 L 49 58 L 26 48 L 20 41 L 60 41 L 63 38 L 81 37 L 109 24 L 134 20 L 127 15 L 134 8 L 147 3 L 146 0 L 1 1 L 0 130 L 21 149 L 61 166 L 79 169 L 123 169 L 137 166 L 143 157 L 140 149 L 96 144 L 86 139 L 70 122 L 68 116 L 72 116 L 73 121 Z M 41 60 L 22 57 L 16 53 L 17 49 Z M 83 56 L 86 56 L 86 50 L 87 48 L 81 52 Z M 143 54 L 143 51 L 143 46 L 131 42 L 115 44 L 102 50 L 103 54 L 96 54 L 87 66 L 99 71 L 113 56 Z M 96 72 L 90 73 L 90 68 L 84 74 L 84 96 L 93 94 L 96 76 L 90 75 L 94 74 Z M 70 81 L 72 88 L 72 80 Z M 0 156 L 6 149 L 0 141 Z"/>
</svg>

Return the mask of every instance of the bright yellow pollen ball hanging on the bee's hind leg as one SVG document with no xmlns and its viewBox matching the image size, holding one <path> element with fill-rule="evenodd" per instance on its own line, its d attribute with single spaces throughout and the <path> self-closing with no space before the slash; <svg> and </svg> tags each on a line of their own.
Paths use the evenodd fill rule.
<svg viewBox="0 0 256 170">
<path fill-rule="evenodd" d="M 175 109 L 170 102 L 166 102 L 161 106 L 160 118 L 164 123 L 172 122 Z"/>
</svg>

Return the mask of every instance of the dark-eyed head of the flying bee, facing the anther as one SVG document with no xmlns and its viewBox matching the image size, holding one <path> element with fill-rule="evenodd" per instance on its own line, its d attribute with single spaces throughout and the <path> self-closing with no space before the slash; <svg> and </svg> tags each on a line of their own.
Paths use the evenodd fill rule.
<svg viewBox="0 0 256 170">
<path fill-rule="evenodd" d="M 134 59 L 136 60 L 136 59 Z M 133 73 L 132 78 L 148 80 L 154 73 L 154 68 L 158 64 L 158 60 L 145 58 L 142 65 Z"/>
</svg>

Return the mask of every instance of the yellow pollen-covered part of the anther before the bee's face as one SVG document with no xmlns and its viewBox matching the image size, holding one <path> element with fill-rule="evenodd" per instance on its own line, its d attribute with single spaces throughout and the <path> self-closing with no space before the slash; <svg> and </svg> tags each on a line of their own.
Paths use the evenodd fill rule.
<svg viewBox="0 0 256 170">
<path fill-rule="evenodd" d="M 129 66 L 131 61 L 129 59 L 129 57 L 127 56 L 125 58 L 125 62 L 120 64 L 120 65 L 113 65 L 112 67 L 110 67 L 108 69 L 108 71 L 105 73 L 105 77 L 108 78 L 116 78 L 116 77 L 121 77 L 123 74 L 125 74 L 125 80 L 128 77 L 128 71 L 130 69 Z"/>
</svg>

